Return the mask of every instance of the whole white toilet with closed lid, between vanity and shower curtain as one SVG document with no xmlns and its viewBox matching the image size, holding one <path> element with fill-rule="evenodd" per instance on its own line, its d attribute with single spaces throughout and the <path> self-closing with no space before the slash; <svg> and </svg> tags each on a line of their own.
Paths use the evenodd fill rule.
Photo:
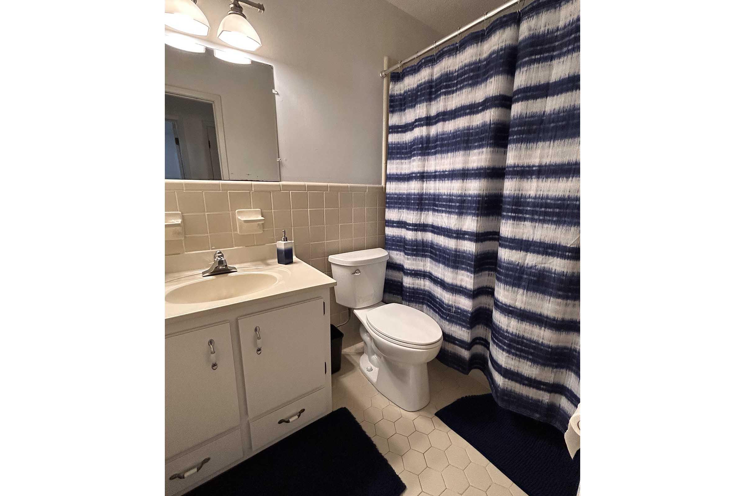
<svg viewBox="0 0 745 496">
<path fill-rule="evenodd" d="M 387 260 L 383 248 L 330 256 L 336 302 L 360 321 L 364 376 L 400 408 L 421 410 L 429 403 L 427 364 L 440 352 L 443 329 L 410 306 L 382 303 Z"/>
</svg>

